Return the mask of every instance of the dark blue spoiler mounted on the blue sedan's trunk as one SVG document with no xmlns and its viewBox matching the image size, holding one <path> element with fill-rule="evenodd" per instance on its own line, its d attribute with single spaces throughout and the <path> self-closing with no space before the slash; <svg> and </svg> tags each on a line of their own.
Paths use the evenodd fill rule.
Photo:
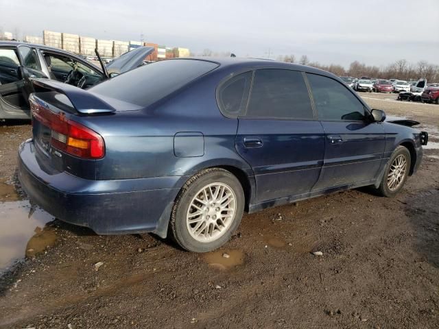
<svg viewBox="0 0 439 329">
<path fill-rule="evenodd" d="M 106 101 L 100 99 L 95 94 L 87 90 L 64 84 L 63 82 L 47 80 L 47 79 L 32 79 L 32 84 L 36 87 L 54 90 L 67 96 L 72 103 L 73 108 L 81 114 L 97 114 L 116 112 L 115 108 L 110 106 Z"/>
</svg>

